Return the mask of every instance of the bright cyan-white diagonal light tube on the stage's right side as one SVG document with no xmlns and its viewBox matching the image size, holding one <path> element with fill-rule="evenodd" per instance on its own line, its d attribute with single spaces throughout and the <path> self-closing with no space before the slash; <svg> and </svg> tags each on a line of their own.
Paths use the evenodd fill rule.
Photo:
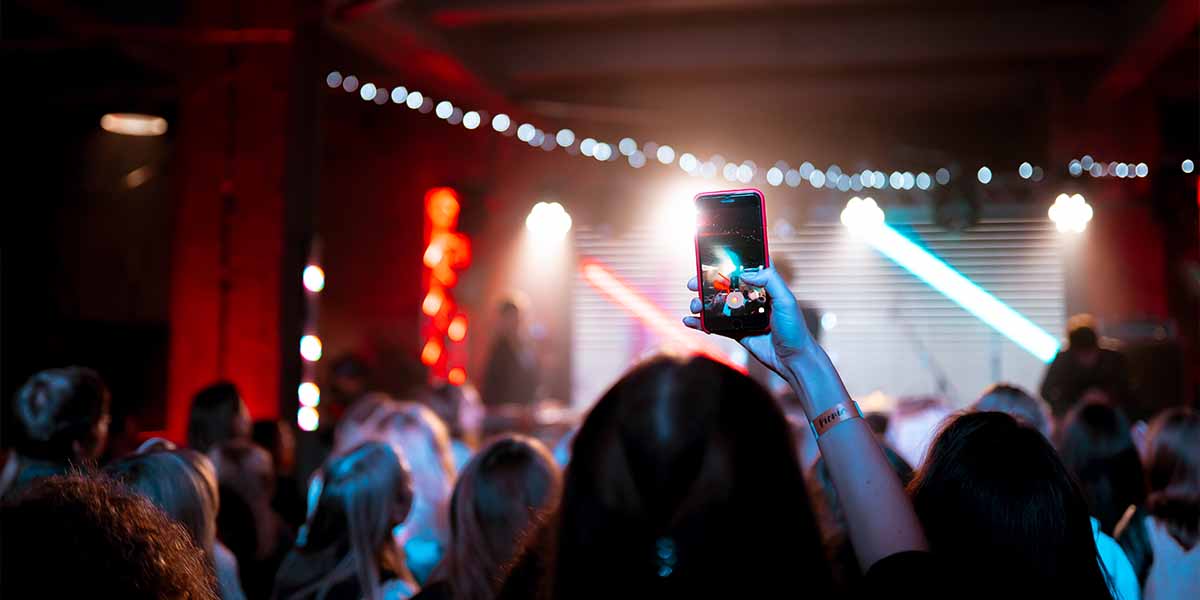
<svg viewBox="0 0 1200 600">
<path fill-rule="evenodd" d="M 944 294 L 954 304 L 974 314 L 979 320 L 1000 331 L 1004 337 L 1043 362 L 1050 362 L 1058 353 L 1058 340 L 1046 330 L 1000 301 L 942 259 L 913 244 L 912 240 L 890 226 L 882 224 L 872 228 L 863 238 L 880 253 Z"/>
</svg>

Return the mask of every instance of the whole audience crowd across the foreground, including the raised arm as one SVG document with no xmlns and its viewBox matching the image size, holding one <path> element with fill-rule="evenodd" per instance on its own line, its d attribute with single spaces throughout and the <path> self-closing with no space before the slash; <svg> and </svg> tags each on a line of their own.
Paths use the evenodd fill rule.
<svg viewBox="0 0 1200 600">
<path fill-rule="evenodd" d="M 300 481 L 290 428 L 252 422 L 218 383 L 196 395 L 186 448 L 150 439 L 100 466 L 104 383 L 80 367 L 37 373 L 12 398 L 0 590 L 1200 598 L 1200 414 L 1130 422 L 1094 331 L 1073 331 L 1049 404 L 998 384 L 910 463 L 886 419 L 863 418 L 782 278 L 745 277 L 774 310 L 769 332 L 740 342 L 787 382 L 786 400 L 710 359 L 658 356 L 595 402 L 562 457 L 521 434 L 480 440 L 462 388 L 365 394 Z M 815 439 L 814 462 L 798 437 Z"/>
</svg>

